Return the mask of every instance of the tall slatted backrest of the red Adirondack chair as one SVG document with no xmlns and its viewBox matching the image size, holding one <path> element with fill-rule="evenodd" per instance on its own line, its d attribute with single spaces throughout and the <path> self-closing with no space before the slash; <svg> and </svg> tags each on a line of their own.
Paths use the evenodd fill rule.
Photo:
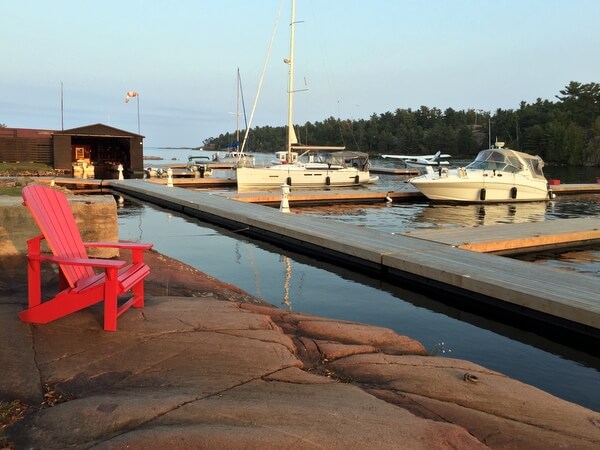
<svg viewBox="0 0 600 450">
<path fill-rule="evenodd" d="M 23 199 L 55 256 L 88 258 L 65 194 L 46 186 L 31 184 L 23 188 Z M 61 264 L 60 268 L 71 287 L 78 280 L 94 274 L 88 266 Z"/>
</svg>

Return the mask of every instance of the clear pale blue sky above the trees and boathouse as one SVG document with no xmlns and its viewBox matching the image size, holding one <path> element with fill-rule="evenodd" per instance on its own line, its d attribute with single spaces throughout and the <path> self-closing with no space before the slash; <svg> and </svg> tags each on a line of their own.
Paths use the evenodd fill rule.
<svg viewBox="0 0 600 450">
<path fill-rule="evenodd" d="M 104 123 L 199 146 L 286 123 L 289 0 L 0 0 L 0 123 Z M 297 0 L 295 123 L 421 105 L 495 111 L 600 82 L 598 0 Z M 61 116 L 61 83 L 63 114 Z"/>
</svg>

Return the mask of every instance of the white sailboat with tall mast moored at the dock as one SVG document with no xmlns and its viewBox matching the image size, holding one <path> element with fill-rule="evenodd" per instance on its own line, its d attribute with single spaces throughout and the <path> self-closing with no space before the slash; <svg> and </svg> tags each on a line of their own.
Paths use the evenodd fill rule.
<svg viewBox="0 0 600 450">
<path fill-rule="evenodd" d="M 377 177 L 369 174 L 368 154 L 343 152 L 344 147 L 299 145 L 293 123 L 294 95 L 294 28 L 295 1 L 292 0 L 290 21 L 287 148 L 277 152 L 276 163 L 268 167 L 237 169 L 238 188 L 276 188 L 283 184 L 293 187 L 357 186 L 372 183 Z M 332 159 L 319 160 L 315 153 L 337 150 Z"/>
</svg>

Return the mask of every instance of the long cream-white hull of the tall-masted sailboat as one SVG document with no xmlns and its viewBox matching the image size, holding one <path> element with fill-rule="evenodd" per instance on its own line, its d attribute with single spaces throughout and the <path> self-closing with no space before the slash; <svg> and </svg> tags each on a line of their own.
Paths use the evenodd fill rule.
<svg viewBox="0 0 600 450">
<path fill-rule="evenodd" d="M 279 167 L 240 167 L 236 171 L 238 188 L 277 188 L 283 184 L 303 188 L 348 187 L 367 184 L 369 172 L 353 167 L 312 170 L 290 164 Z"/>
</svg>

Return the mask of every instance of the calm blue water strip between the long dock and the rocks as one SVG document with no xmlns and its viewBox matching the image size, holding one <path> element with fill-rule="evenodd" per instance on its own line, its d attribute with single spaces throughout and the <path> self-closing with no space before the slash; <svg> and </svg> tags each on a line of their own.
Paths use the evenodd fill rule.
<svg viewBox="0 0 600 450">
<path fill-rule="evenodd" d="M 137 214 L 125 213 L 130 207 Z M 121 239 L 153 242 L 157 251 L 275 306 L 387 327 L 437 354 L 443 347 L 441 354 L 600 411 L 600 394 L 590 395 L 600 385 L 597 350 L 557 343 L 514 319 L 468 312 L 457 307 L 460 299 L 446 293 L 412 291 L 137 201 L 126 199 L 119 209 L 119 228 Z"/>
</svg>

